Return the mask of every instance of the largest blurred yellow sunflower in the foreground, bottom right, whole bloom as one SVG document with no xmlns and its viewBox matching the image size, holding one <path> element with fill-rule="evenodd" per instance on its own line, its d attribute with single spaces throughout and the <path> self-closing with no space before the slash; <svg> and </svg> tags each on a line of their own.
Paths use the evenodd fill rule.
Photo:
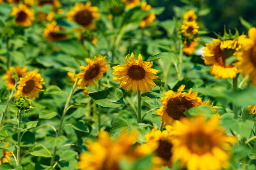
<svg viewBox="0 0 256 170">
<path fill-rule="evenodd" d="M 237 140 L 228 136 L 219 125 L 219 117 L 207 122 L 203 116 L 173 124 L 172 158 L 188 170 L 220 170 L 229 167 L 228 150 Z"/>
</svg>

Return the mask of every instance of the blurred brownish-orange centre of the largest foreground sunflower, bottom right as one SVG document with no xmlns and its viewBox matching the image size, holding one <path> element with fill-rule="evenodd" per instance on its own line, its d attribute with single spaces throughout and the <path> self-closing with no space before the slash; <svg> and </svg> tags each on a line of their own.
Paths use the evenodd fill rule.
<svg viewBox="0 0 256 170">
<path fill-rule="evenodd" d="M 214 139 L 203 131 L 187 134 L 185 141 L 188 149 L 199 155 L 211 152 L 216 145 Z"/>
</svg>

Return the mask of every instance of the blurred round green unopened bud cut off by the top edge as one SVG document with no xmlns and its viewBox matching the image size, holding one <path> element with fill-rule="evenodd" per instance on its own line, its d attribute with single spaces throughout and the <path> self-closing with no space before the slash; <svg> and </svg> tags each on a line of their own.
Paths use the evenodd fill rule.
<svg viewBox="0 0 256 170">
<path fill-rule="evenodd" d="M 115 16 L 123 14 L 125 3 L 122 0 L 108 0 L 107 9 Z"/>
</svg>

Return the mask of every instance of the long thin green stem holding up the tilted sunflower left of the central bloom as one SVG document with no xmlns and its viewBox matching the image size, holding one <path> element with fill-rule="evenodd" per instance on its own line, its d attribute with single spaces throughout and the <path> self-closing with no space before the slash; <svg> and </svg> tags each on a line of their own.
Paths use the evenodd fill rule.
<svg viewBox="0 0 256 170">
<path fill-rule="evenodd" d="M 73 93 L 74 93 L 74 90 L 75 90 L 75 88 L 76 88 L 77 82 L 78 82 L 78 78 L 76 78 L 76 82 L 74 83 L 74 85 L 73 85 L 73 87 L 72 87 L 72 89 L 71 89 L 71 91 L 70 91 L 70 94 L 69 94 L 69 96 L 68 96 L 68 98 L 67 98 L 67 101 L 66 101 L 66 104 L 65 104 L 65 107 L 64 107 L 64 110 L 63 110 L 61 119 L 60 119 L 57 137 L 60 136 L 60 132 L 61 132 L 61 128 L 62 128 L 62 123 L 63 123 L 64 117 L 65 117 L 65 115 L 66 115 L 66 111 L 67 111 L 67 108 L 68 108 L 68 104 L 69 104 L 70 99 L 71 99 L 71 97 L 72 97 L 72 95 L 73 95 Z M 53 155 L 52 155 L 52 158 L 51 158 L 50 166 L 53 165 L 56 152 L 57 152 L 57 146 L 54 147 L 54 151 L 53 151 Z"/>
</svg>

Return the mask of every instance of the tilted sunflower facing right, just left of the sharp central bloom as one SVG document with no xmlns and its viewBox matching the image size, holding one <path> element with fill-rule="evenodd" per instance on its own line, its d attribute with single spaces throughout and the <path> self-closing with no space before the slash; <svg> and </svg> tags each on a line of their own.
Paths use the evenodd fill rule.
<svg viewBox="0 0 256 170">
<path fill-rule="evenodd" d="M 79 74 L 76 75 L 79 78 L 77 85 L 81 88 L 84 88 L 86 85 L 89 87 L 95 85 L 97 80 L 100 80 L 105 72 L 107 72 L 107 68 L 110 66 L 107 65 L 107 60 L 102 55 L 99 57 L 94 57 L 93 60 L 86 59 L 87 64 L 85 66 L 81 66 Z"/>
</svg>

